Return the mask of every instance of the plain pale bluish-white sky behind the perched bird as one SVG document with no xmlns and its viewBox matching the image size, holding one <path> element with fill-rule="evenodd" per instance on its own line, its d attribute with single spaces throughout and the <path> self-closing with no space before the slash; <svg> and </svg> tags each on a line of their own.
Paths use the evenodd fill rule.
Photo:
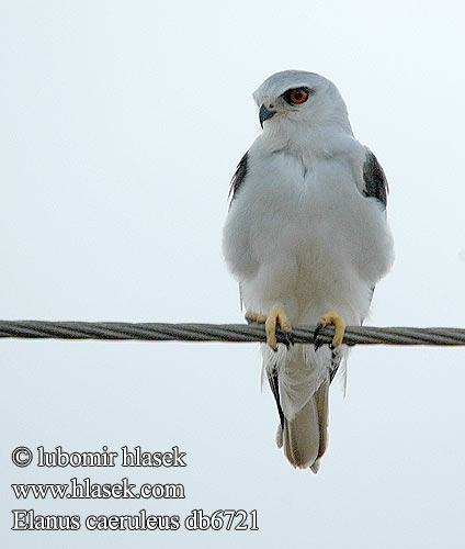
<svg viewBox="0 0 465 549">
<path fill-rule="evenodd" d="M 464 326 L 461 2 L 1 3 L 0 317 L 241 322 L 223 262 L 251 92 L 332 79 L 390 182 L 373 325 Z M 0 341 L 2 547 L 463 547 L 465 350 L 359 347 L 321 471 L 275 448 L 257 345 Z M 185 469 L 18 469 L 13 448 L 140 445 Z M 183 482 L 184 501 L 16 501 L 12 482 Z M 11 531 L 37 514 L 257 508 L 258 533 Z"/>
</svg>

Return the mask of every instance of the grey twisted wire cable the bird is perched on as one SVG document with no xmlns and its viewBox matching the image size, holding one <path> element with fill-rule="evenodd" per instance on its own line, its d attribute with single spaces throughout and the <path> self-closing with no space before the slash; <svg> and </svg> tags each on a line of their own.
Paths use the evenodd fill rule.
<svg viewBox="0 0 465 549">
<path fill-rule="evenodd" d="M 294 343 L 314 344 L 316 326 L 293 326 Z M 329 344 L 333 326 L 318 334 L 318 341 Z M 177 341 L 242 341 L 266 340 L 263 324 L 166 324 L 125 322 L 46 322 L 0 321 L 0 338 L 56 339 L 135 339 Z M 279 343 L 284 335 L 276 330 Z M 343 343 L 347 345 L 465 345 L 463 328 L 415 328 L 348 326 Z"/>
</svg>

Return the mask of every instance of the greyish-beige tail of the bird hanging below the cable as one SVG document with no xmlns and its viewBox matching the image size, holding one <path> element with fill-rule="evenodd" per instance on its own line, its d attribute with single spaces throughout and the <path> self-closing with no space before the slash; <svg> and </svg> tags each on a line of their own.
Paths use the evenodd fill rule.
<svg viewBox="0 0 465 549">
<path fill-rule="evenodd" d="M 288 421 L 284 418 L 284 453 L 291 464 L 305 469 L 309 467 L 318 472 L 321 456 L 328 442 L 328 393 L 329 380 Z"/>
</svg>

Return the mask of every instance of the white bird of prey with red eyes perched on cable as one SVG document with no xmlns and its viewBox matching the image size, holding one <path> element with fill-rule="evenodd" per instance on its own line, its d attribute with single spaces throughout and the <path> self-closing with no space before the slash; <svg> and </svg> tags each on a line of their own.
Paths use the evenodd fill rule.
<svg viewBox="0 0 465 549">
<path fill-rule="evenodd" d="M 285 70 L 253 98 L 262 133 L 232 177 L 223 250 L 246 318 L 265 323 L 276 444 L 294 467 L 316 473 L 327 447 L 329 384 L 348 355 L 345 323 L 363 323 L 394 259 L 388 188 L 331 81 Z M 276 324 L 287 345 L 276 343 Z M 332 344 L 293 345 L 293 324 L 331 324 Z"/>
</svg>

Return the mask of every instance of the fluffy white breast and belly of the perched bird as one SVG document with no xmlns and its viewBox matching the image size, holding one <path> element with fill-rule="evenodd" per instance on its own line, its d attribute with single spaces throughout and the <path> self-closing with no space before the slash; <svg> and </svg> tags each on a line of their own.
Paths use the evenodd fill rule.
<svg viewBox="0 0 465 549">
<path fill-rule="evenodd" d="M 252 149 L 224 250 L 248 310 L 280 303 L 293 322 L 314 323 L 337 309 L 360 323 L 371 289 L 390 266 L 392 238 L 379 204 L 359 191 L 347 156 Z"/>
</svg>

